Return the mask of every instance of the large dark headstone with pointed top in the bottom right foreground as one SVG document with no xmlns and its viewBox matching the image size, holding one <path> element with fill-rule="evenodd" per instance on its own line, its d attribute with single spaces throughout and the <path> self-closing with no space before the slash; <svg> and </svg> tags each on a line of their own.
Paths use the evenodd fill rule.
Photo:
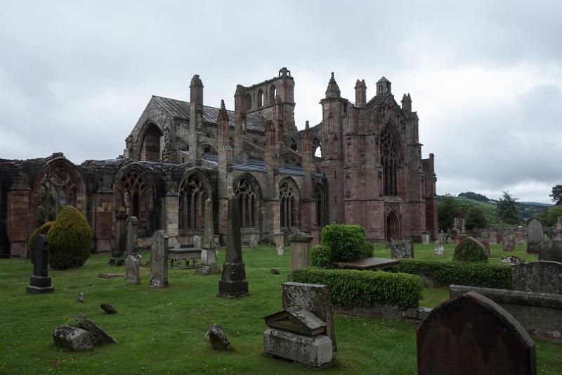
<svg viewBox="0 0 562 375">
<path fill-rule="evenodd" d="M 536 374 L 535 343 L 514 317 L 478 293 L 435 307 L 416 331 L 420 375 Z"/>
</svg>

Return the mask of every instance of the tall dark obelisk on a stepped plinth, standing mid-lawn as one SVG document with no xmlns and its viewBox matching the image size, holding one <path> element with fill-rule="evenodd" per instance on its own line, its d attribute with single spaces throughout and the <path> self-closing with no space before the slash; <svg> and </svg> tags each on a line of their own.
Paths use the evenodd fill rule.
<svg viewBox="0 0 562 375">
<path fill-rule="evenodd" d="M 226 222 L 226 260 L 218 282 L 218 296 L 235 298 L 248 295 L 246 268 L 242 262 L 242 233 L 240 232 L 240 203 L 237 196 L 228 198 Z"/>
</svg>

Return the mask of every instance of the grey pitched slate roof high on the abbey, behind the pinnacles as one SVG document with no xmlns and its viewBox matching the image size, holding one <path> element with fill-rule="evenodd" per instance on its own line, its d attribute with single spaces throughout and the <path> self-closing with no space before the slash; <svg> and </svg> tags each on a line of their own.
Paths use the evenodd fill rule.
<svg viewBox="0 0 562 375">
<path fill-rule="evenodd" d="M 188 101 L 178 101 L 176 99 L 164 98 L 152 95 L 152 98 L 159 103 L 162 108 L 167 110 L 172 116 L 182 120 L 189 120 L 191 103 Z M 219 108 L 203 106 L 203 121 L 216 124 Z M 231 127 L 234 127 L 234 111 L 227 110 L 228 120 Z M 246 115 L 246 129 L 253 132 L 265 132 L 266 119 L 258 115 Z"/>
</svg>

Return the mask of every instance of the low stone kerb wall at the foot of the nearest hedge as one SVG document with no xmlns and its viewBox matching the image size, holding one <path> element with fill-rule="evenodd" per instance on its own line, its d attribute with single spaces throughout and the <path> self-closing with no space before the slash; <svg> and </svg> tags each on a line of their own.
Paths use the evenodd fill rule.
<svg viewBox="0 0 562 375">
<path fill-rule="evenodd" d="M 421 323 L 431 312 L 429 307 L 412 307 L 401 309 L 397 305 L 375 303 L 370 307 L 341 307 L 332 305 L 332 311 L 339 314 L 353 315 L 354 317 L 404 319 L 407 322 Z"/>
</svg>

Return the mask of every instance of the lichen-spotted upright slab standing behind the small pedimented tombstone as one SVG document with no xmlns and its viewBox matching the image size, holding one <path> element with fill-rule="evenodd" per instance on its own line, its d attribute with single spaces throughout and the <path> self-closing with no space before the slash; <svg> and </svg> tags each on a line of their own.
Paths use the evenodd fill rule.
<svg viewBox="0 0 562 375">
<path fill-rule="evenodd" d="M 287 282 L 281 285 L 283 308 L 285 310 L 307 310 L 326 323 L 326 336 L 332 340 L 332 349 L 338 350 L 329 286 Z"/>
</svg>

